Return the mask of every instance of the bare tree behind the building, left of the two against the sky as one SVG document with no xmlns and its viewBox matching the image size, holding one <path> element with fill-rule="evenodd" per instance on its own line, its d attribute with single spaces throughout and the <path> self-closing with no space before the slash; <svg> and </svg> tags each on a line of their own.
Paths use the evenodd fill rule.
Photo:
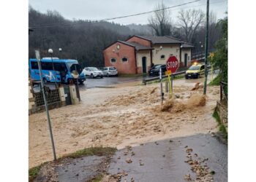
<svg viewBox="0 0 256 182">
<path fill-rule="evenodd" d="M 170 23 L 170 11 L 165 8 L 165 4 L 157 4 L 157 7 L 155 8 L 156 12 L 154 12 L 154 15 L 148 18 L 148 25 L 153 29 L 156 36 L 170 35 L 172 28 Z M 157 11 L 159 9 L 163 10 Z"/>
</svg>

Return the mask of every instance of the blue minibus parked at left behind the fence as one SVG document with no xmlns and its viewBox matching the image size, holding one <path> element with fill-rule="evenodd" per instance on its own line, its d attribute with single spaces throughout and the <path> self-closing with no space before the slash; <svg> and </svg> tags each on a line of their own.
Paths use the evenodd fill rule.
<svg viewBox="0 0 256 182">
<path fill-rule="evenodd" d="M 78 82 L 82 84 L 86 80 L 83 69 L 78 64 L 78 60 L 42 58 L 42 79 L 46 82 L 68 83 Z M 39 68 L 37 59 L 29 59 L 29 72 L 31 81 L 39 81 Z"/>
</svg>

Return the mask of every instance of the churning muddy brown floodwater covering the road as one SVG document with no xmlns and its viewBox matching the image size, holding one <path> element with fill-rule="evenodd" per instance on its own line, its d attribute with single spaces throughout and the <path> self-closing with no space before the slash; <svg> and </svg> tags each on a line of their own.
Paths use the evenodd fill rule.
<svg viewBox="0 0 256 182">
<path fill-rule="evenodd" d="M 211 114 L 219 99 L 219 87 L 208 87 L 204 98 L 202 87 L 192 90 L 195 82 L 174 83 L 173 92 L 178 97 L 167 100 L 165 96 L 163 106 L 159 84 L 82 90 L 80 104 L 50 111 L 57 157 L 91 146 L 124 149 L 216 132 L 217 122 Z M 45 113 L 29 116 L 29 167 L 52 160 L 48 135 Z"/>
</svg>

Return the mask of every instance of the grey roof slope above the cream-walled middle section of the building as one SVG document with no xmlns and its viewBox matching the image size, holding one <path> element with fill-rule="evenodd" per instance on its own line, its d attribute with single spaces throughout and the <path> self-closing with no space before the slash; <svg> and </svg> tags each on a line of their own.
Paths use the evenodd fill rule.
<svg viewBox="0 0 256 182">
<path fill-rule="evenodd" d="M 183 41 L 172 36 L 138 36 L 139 38 L 147 39 L 152 44 L 181 44 Z"/>
</svg>

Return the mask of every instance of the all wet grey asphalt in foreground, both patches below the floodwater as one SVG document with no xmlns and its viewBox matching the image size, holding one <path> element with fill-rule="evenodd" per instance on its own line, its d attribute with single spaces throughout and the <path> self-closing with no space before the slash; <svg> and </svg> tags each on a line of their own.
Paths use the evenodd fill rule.
<svg viewBox="0 0 256 182">
<path fill-rule="evenodd" d="M 186 182 L 189 174 L 195 180 L 196 173 L 187 162 L 187 149 L 197 159 L 207 159 L 204 166 L 214 171 L 214 182 L 227 181 L 227 144 L 216 135 L 198 134 L 164 141 L 141 143 L 140 146 L 116 151 L 110 162 L 109 175 L 126 173 L 120 181 L 140 182 Z M 58 181 L 89 181 L 99 175 L 99 168 L 105 157 L 81 157 L 69 159 L 64 165 L 56 167 Z"/>
</svg>

